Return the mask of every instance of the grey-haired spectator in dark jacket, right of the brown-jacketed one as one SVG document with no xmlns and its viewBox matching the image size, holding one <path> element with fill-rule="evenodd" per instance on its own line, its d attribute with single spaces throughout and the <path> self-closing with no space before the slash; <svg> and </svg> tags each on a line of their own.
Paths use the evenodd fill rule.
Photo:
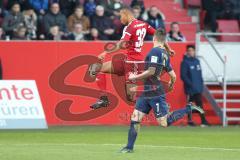
<svg viewBox="0 0 240 160">
<path fill-rule="evenodd" d="M 92 28 L 96 29 L 101 40 L 113 40 L 114 26 L 109 17 L 104 15 L 104 8 L 96 7 L 96 15 L 91 19 Z M 95 32 L 95 31 L 94 31 Z"/>
</svg>

